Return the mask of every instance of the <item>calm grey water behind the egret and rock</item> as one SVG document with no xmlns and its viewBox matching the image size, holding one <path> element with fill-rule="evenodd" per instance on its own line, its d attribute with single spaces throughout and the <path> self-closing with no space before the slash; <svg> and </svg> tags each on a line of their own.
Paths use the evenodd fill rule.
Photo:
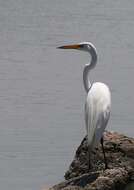
<svg viewBox="0 0 134 190">
<path fill-rule="evenodd" d="M 134 136 L 134 1 L 0 0 L 0 189 L 37 190 L 63 179 L 85 135 L 82 70 L 112 91 L 108 128 Z"/>
</svg>

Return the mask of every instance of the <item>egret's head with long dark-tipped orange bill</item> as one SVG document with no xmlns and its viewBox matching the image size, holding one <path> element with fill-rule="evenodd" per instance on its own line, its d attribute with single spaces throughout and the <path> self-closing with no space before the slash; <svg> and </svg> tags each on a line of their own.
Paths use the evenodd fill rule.
<svg viewBox="0 0 134 190">
<path fill-rule="evenodd" d="M 96 48 L 91 42 L 81 42 L 78 44 L 64 45 L 64 46 L 60 46 L 57 48 L 76 49 L 76 50 L 86 51 L 86 52 L 90 52 L 90 53 L 94 50 L 96 52 Z"/>
</svg>

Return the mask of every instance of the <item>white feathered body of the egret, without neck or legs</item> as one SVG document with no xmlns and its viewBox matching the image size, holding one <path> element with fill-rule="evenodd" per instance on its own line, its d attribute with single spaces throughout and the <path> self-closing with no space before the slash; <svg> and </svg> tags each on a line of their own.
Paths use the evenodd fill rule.
<svg viewBox="0 0 134 190">
<path fill-rule="evenodd" d="M 85 104 L 88 145 L 93 148 L 100 141 L 110 116 L 111 94 L 104 83 L 93 83 Z"/>
</svg>

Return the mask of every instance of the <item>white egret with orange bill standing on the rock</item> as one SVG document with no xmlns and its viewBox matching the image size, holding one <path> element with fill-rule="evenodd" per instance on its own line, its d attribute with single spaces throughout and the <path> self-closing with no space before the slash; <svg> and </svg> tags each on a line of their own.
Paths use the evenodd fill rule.
<svg viewBox="0 0 134 190">
<path fill-rule="evenodd" d="M 90 55 L 90 61 L 84 66 L 83 70 L 83 84 L 87 93 L 85 102 L 85 125 L 88 144 L 88 169 L 90 170 L 92 168 L 91 153 L 99 142 L 102 145 L 105 169 L 107 169 L 108 163 L 103 146 L 103 133 L 110 118 L 111 92 L 105 83 L 90 82 L 90 71 L 94 69 L 97 64 L 97 50 L 91 42 L 80 42 L 59 46 L 57 48 L 85 51 Z"/>
</svg>

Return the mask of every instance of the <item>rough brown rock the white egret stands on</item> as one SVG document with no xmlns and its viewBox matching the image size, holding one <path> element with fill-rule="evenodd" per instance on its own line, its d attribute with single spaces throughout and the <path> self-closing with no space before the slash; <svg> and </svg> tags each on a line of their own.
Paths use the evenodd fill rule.
<svg viewBox="0 0 134 190">
<path fill-rule="evenodd" d="M 116 132 L 105 132 L 104 149 L 108 162 L 105 170 L 101 145 L 92 151 L 92 168 L 88 171 L 88 148 L 85 137 L 78 149 L 65 181 L 51 190 L 116 190 L 134 180 L 134 139 Z"/>
</svg>

